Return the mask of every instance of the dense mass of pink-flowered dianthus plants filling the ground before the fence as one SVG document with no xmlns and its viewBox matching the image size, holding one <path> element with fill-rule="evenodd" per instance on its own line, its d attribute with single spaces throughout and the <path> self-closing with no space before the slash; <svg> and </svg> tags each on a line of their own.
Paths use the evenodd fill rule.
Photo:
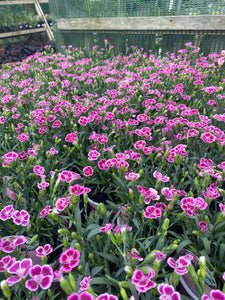
<svg viewBox="0 0 225 300">
<path fill-rule="evenodd" d="M 225 299 L 224 57 L 105 40 L 1 70 L 1 298 Z"/>
</svg>

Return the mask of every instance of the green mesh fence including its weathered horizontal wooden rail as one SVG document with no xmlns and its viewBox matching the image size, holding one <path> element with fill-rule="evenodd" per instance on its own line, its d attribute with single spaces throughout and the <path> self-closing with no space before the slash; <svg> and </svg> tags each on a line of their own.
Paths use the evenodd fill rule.
<svg viewBox="0 0 225 300">
<path fill-rule="evenodd" d="M 225 0 L 49 0 L 56 46 L 91 51 L 108 39 L 124 53 L 135 45 L 177 52 L 193 42 L 204 54 L 225 49 Z"/>
</svg>

